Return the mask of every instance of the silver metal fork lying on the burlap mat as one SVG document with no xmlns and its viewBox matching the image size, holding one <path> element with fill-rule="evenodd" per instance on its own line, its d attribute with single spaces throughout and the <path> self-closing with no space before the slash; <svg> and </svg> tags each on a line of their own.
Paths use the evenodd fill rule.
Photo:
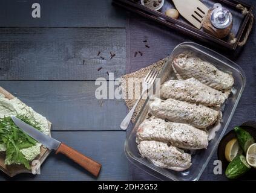
<svg viewBox="0 0 256 193">
<path fill-rule="evenodd" d="M 159 73 L 159 71 L 156 68 L 153 68 L 153 69 L 151 69 L 151 71 L 148 72 L 148 74 L 142 81 L 142 93 L 140 95 L 140 98 L 134 104 L 133 109 L 130 110 L 130 112 L 126 115 L 126 117 L 121 122 L 120 127 L 122 128 L 122 130 L 126 130 L 126 128 L 128 127 L 128 125 L 131 121 L 131 117 L 133 116 L 134 110 L 136 109 L 140 99 L 142 98 L 144 93 L 153 85 L 158 73 Z"/>
</svg>

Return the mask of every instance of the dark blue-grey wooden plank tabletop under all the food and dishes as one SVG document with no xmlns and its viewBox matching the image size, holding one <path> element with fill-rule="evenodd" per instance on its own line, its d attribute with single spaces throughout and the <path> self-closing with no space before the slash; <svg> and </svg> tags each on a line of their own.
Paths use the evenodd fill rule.
<svg viewBox="0 0 256 193">
<path fill-rule="evenodd" d="M 157 180 L 126 159 L 126 133 L 119 128 L 125 103 L 96 100 L 95 80 L 108 79 L 110 72 L 115 78 L 134 72 L 166 57 L 177 44 L 194 40 L 113 7 L 111 0 L 37 2 L 41 18 L 31 17 L 34 1 L 0 2 L 0 85 L 46 116 L 53 123 L 54 138 L 102 163 L 97 180 Z M 254 26 L 243 49 L 224 53 L 247 77 L 228 130 L 256 117 L 255 37 Z M 134 57 L 136 51 L 143 56 Z M 110 52 L 116 54 L 113 59 Z M 216 153 L 200 180 L 226 180 L 213 174 L 215 159 Z M 10 179 L 1 172 L 0 180 L 96 179 L 64 156 L 51 154 L 41 175 Z"/>
</svg>

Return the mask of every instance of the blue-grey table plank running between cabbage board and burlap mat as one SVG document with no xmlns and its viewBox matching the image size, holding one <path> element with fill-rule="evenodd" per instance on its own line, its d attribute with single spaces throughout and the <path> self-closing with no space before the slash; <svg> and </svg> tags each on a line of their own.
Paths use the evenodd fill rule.
<svg viewBox="0 0 256 193">
<path fill-rule="evenodd" d="M 97 100 L 94 81 L 0 81 L 52 122 L 52 130 L 120 130 L 123 100 Z"/>
</svg>

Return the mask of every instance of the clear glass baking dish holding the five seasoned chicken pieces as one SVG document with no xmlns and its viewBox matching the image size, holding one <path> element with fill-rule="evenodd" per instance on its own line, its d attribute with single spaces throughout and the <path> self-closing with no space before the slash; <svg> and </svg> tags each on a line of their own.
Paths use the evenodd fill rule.
<svg viewBox="0 0 256 193">
<path fill-rule="evenodd" d="M 208 165 L 208 162 L 211 159 L 212 154 L 217 148 L 220 139 L 222 139 L 222 136 L 225 133 L 226 128 L 229 125 L 229 122 L 231 121 L 231 118 L 235 112 L 238 101 L 240 100 L 241 97 L 241 93 L 243 92 L 246 83 L 245 73 L 240 68 L 240 66 L 238 66 L 231 60 L 227 59 L 223 55 L 220 55 L 217 52 L 212 51 L 211 49 L 208 49 L 196 43 L 185 42 L 181 43 L 176 48 L 174 48 L 171 55 L 169 56 L 169 59 L 165 63 L 165 66 L 163 67 L 163 70 L 159 75 L 161 84 L 171 78 L 172 60 L 182 52 L 193 52 L 201 59 L 207 60 L 208 62 L 214 64 L 218 69 L 224 72 L 231 72 L 234 77 L 234 87 L 232 89 L 231 95 L 229 95 L 229 98 L 224 105 L 225 107 L 223 107 L 223 118 L 220 124 L 218 125 L 220 129 L 217 131 L 215 138 L 209 141 L 207 149 L 196 150 L 192 153 L 191 167 L 182 172 L 159 168 L 158 166 L 153 165 L 153 163 L 151 163 L 149 160 L 140 156 L 136 144 L 136 130 L 141 124 L 141 122 L 146 118 L 146 115 L 148 113 L 148 105 L 150 100 L 148 98 L 145 101 L 145 104 L 143 105 L 143 108 L 140 111 L 138 118 L 136 119 L 133 130 L 130 132 L 130 134 L 128 134 L 126 138 L 125 154 L 131 163 L 134 163 L 135 165 L 139 166 L 139 168 L 143 169 L 144 171 L 157 177 L 160 180 L 199 180 L 203 170 L 205 169 L 206 165 Z"/>
</svg>

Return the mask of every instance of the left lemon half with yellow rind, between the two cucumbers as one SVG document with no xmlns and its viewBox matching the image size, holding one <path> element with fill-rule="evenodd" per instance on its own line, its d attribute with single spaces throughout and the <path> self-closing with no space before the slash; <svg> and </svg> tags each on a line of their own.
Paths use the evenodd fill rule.
<svg viewBox="0 0 256 193">
<path fill-rule="evenodd" d="M 225 157 L 228 162 L 231 162 L 237 155 L 243 153 L 243 150 L 240 148 L 237 138 L 231 139 L 231 141 L 226 144 L 225 147 Z"/>
</svg>

